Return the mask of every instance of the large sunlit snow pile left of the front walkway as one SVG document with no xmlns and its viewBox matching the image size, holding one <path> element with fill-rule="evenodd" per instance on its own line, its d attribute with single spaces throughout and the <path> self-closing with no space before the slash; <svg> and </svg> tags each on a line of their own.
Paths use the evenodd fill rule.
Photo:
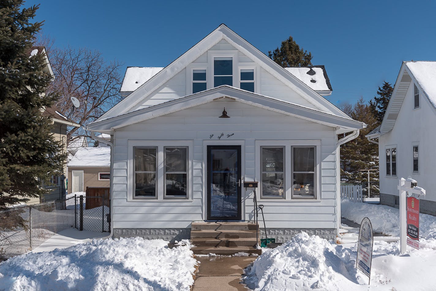
<svg viewBox="0 0 436 291">
<path fill-rule="evenodd" d="M 0 289 L 190 290 L 197 262 L 184 243 L 135 237 L 28 253 L 0 264 Z"/>
</svg>

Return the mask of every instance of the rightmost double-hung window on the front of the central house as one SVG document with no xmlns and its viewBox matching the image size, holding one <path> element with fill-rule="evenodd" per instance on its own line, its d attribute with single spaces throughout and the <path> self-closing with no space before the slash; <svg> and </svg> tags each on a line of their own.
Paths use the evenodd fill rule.
<svg viewBox="0 0 436 291">
<path fill-rule="evenodd" d="M 293 147 L 293 166 L 291 176 L 293 181 L 293 198 L 316 198 L 315 149 L 314 146 Z"/>
</svg>

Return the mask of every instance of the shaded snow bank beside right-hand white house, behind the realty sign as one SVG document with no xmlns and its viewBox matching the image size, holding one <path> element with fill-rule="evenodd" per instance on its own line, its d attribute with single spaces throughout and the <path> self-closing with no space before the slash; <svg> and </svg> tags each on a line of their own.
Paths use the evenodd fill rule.
<svg viewBox="0 0 436 291">
<path fill-rule="evenodd" d="M 399 209 L 387 205 L 351 202 L 350 200 L 342 200 L 341 202 L 342 217 L 359 224 L 364 217 L 368 217 L 371 220 L 373 230 L 380 230 L 394 237 L 400 235 L 399 215 Z M 434 240 L 436 246 L 436 217 L 419 214 L 419 237 Z"/>
</svg>

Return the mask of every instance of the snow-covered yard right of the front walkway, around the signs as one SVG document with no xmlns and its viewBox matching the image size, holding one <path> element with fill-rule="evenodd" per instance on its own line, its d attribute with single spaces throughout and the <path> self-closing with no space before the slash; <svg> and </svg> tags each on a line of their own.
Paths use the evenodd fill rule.
<svg viewBox="0 0 436 291">
<path fill-rule="evenodd" d="M 342 201 L 342 216 L 360 223 L 371 220 L 374 230 L 399 235 L 399 210 L 368 203 Z M 399 242 L 374 241 L 371 284 L 355 268 L 357 236 L 341 244 L 300 233 L 266 250 L 246 270 L 245 282 L 255 290 L 435 290 L 436 217 L 420 215 L 420 250 L 399 253 Z"/>
</svg>

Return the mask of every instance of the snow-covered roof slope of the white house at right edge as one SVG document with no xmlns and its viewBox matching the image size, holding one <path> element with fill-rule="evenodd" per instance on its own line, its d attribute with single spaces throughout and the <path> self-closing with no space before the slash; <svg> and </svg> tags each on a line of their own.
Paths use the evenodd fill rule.
<svg viewBox="0 0 436 291">
<path fill-rule="evenodd" d="M 405 65 L 436 108 L 436 61 L 406 61 Z"/>
</svg>

